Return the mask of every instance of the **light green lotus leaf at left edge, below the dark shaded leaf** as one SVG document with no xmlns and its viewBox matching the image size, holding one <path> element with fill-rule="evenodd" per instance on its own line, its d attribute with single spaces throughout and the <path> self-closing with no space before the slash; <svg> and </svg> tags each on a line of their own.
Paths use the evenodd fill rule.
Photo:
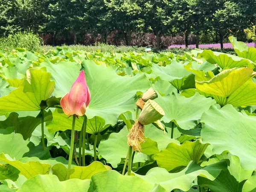
<svg viewBox="0 0 256 192">
<path fill-rule="evenodd" d="M 0 129 L 0 153 L 8 154 L 19 160 L 29 151 L 29 141 L 23 140 L 21 134 L 15 134 L 8 129 Z"/>
</svg>

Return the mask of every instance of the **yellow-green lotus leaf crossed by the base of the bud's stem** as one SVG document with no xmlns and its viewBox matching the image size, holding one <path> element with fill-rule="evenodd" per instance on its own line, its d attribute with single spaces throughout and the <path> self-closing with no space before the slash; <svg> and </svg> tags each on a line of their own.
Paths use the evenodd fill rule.
<svg viewBox="0 0 256 192">
<path fill-rule="evenodd" d="M 88 166 L 74 166 L 70 170 L 70 179 L 90 179 L 98 172 L 105 172 L 108 169 L 99 161 L 94 161 Z M 62 164 L 56 164 L 52 167 L 52 172 L 57 175 L 60 181 L 64 181 L 67 176 L 67 168 Z"/>
</svg>

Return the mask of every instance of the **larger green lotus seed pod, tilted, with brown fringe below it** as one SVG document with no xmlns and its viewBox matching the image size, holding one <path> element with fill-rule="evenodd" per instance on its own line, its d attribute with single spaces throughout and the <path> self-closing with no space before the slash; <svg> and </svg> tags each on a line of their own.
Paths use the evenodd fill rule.
<svg viewBox="0 0 256 192">
<path fill-rule="evenodd" d="M 164 115 L 163 109 L 156 102 L 149 99 L 140 113 L 139 122 L 142 125 L 148 125 L 161 119 Z"/>
</svg>

